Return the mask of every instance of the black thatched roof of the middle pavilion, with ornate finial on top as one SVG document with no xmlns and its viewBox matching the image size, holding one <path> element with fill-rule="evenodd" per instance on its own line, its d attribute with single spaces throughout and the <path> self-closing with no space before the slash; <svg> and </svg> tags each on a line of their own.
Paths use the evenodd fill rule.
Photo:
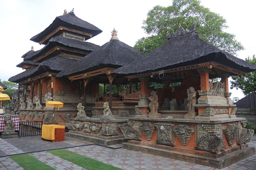
<svg viewBox="0 0 256 170">
<path fill-rule="evenodd" d="M 111 40 L 95 51 L 83 57 L 79 62 L 71 65 L 69 69 L 63 70 L 57 74 L 57 77 L 77 74 L 92 69 L 100 69 L 103 67 L 118 68 L 140 57 L 144 54 L 137 49 L 125 44 L 119 40 Z"/>
</svg>

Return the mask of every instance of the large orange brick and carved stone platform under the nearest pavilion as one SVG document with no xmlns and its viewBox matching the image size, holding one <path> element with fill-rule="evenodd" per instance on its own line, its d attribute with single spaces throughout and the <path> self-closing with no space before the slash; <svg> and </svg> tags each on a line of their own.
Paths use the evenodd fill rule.
<svg viewBox="0 0 256 170">
<path fill-rule="evenodd" d="M 245 118 L 188 120 L 129 118 L 119 129 L 129 140 L 124 149 L 224 168 L 255 154 L 248 147 L 253 131 Z"/>
</svg>

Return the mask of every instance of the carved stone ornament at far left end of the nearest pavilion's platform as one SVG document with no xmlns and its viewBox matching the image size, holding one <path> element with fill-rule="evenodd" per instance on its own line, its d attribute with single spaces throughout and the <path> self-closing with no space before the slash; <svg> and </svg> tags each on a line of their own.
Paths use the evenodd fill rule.
<svg viewBox="0 0 256 170">
<path fill-rule="evenodd" d="M 141 140 L 139 122 L 127 121 L 127 123 L 124 123 L 124 125 L 120 126 L 119 129 L 126 139 Z"/>
</svg>

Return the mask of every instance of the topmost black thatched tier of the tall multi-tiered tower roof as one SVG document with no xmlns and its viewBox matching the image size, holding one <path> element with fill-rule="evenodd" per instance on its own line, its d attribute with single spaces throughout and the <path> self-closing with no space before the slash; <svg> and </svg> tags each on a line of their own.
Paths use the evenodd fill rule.
<svg viewBox="0 0 256 170">
<path fill-rule="evenodd" d="M 86 21 L 76 17 L 76 15 L 74 13 L 68 13 L 66 15 L 61 15 L 59 17 L 56 17 L 50 26 L 48 26 L 41 33 L 32 37 L 30 40 L 35 41 L 35 42 L 39 42 L 46 35 L 48 35 L 53 30 L 55 30 L 58 26 L 66 26 L 68 28 L 73 28 L 73 29 L 76 29 L 76 30 L 91 33 L 92 37 L 95 36 L 95 35 L 98 35 L 99 33 L 102 32 L 98 27 L 96 27 L 96 26 L 90 24 L 89 22 L 86 22 Z"/>
</svg>

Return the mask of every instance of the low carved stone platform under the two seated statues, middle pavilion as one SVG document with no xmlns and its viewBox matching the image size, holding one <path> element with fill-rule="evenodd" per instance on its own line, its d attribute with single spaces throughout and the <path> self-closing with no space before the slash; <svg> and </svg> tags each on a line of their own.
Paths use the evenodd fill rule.
<svg viewBox="0 0 256 170">
<path fill-rule="evenodd" d="M 118 127 L 126 122 L 127 119 L 71 118 L 66 123 L 69 129 L 66 136 L 106 146 L 121 144 L 127 142 L 127 139 Z"/>
</svg>

